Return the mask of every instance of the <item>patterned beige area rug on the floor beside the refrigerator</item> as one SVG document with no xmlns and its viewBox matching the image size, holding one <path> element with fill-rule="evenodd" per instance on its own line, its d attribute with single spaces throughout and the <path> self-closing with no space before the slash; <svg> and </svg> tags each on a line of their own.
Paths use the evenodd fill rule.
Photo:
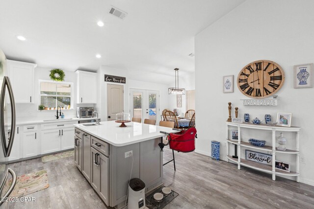
<svg viewBox="0 0 314 209">
<path fill-rule="evenodd" d="M 12 179 L 6 182 L 3 191 L 7 191 L 12 184 Z M 28 173 L 16 178 L 16 185 L 10 197 L 22 197 L 49 187 L 47 170 Z"/>
</svg>

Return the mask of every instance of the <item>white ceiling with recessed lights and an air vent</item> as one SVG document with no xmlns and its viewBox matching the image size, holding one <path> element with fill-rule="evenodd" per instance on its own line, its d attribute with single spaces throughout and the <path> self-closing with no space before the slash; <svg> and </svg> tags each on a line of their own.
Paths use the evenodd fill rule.
<svg viewBox="0 0 314 209">
<path fill-rule="evenodd" d="M 194 36 L 243 1 L 6 0 L 0 48 L 8 59 L 39 67 L 75 71 L 105 65 L 128 70 L 131 79 L 168 84 L 174 68 L 181 75 L 194 72 L 194 57 L 188 56 Z M 111 5 L 127 17 L 110 15 Z M 104 27 L 97 25 L 100 20 Z"/>
</svg>

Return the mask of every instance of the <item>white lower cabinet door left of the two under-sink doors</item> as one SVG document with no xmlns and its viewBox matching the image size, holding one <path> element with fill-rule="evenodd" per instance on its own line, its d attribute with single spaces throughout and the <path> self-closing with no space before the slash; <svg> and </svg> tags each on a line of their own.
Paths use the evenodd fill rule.
<svg viewBox="0 0 314 209">
<path fill-rule="evenodd" d="M 23 158 L 33 157 L 40 154 L 40 140 L 37 131 L 23 134 Z"/>
</svg>

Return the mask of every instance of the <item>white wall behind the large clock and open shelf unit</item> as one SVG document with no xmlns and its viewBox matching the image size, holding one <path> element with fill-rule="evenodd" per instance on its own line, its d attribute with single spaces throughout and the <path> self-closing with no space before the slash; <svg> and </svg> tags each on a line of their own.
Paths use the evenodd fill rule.
<svg viewBox="0 0 314 209">
<path fill-rule="evenodd" d="M 239 107 L 239 116 L 249 113 L 263 119 L 277 112 L 292 113 L 292 126 L 301 126 L 300 165 L 302 182 L 314 185 L 313 116 L 314 88 L 293 88 L 293 66 L 314 62 L 314 1 L 250 0 L 210 25 L 195 37 L 195 90 L 197 115 L 196 152 L 210 155 L 210 140 L 221 142 L 220 158 L 226 160 L 225 121 L 228 102 Z M 238 72 L 255 60 L 271 60 L 285 71 L 286 80 L 279 90 L 278 106 L 243 106 L 248 98 L 234 86 L 234 93 L 222 93 L 222 76 Z M 207 91 L 209 90 L 209 91 Z M 241 132 L 242 133 L 242 132 Z M 279 133 L 277 134 L 279 136 Z M 295 135 L 286 134 L 287 147 L 294 147 Z M 243 138 L 264 138 L 269 144 L 271 133 L 247 132 Z M 270 144 L 269 144 L 270 145 Z M 232 149 L 233 150 L 233 149 Z M 279 160 L 291 160 L 289 155 Z M 291 164 L 292 169 L 294 163 Z"/>
</svg>

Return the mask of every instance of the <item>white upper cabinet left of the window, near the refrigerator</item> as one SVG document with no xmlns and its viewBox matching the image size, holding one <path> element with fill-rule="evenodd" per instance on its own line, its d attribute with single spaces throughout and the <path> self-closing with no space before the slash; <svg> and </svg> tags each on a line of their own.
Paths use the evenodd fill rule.
<svg viewBox="0 0 314 209">
<path fill-rule="evenodd" d="M 37 64 L 7 60 L 15 103 L 34 103 L 34 69 Z"/>
</svg>

